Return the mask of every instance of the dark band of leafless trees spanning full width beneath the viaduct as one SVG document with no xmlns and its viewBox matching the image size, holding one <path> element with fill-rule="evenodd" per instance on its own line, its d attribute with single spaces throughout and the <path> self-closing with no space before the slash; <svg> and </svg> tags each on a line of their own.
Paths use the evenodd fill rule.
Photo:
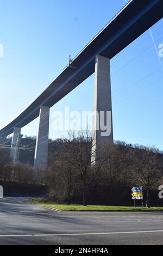
<svg viewBox="0 0 163 256">
<path fill-rule="evenodd" d="M 46 185 L 47 200 L 83 205 L 107 202 L 116 204 L 130 196 L 132 186 L 143 186 L 151 206 L 151 191 L 163 182 L 161 151 L 124 142 L 106 143 L 94 147 L 89 131 L 49 141 L 47 168 L 34 169 L 30 164 L 12 164 L 8 150 L 0 150 L 0 181 L 19 184 Z M 93 150 L 92 150 L 93 148 Z M 95 163 L 95 154 L 96 163 Z M 127 200 L 127 198 L 126 198 Z"/>
</svg>

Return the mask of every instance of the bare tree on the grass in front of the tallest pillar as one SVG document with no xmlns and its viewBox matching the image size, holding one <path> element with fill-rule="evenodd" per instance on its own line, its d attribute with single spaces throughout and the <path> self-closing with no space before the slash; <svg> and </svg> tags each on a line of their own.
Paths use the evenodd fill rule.
<svg viewBox="0 0 163 256">
<path fill-rule="evenodd" d="M 102 154 L 101 145 L 94 147 L 95 143 L 89 130 L 80 131 L 77 134 L 70 131 L 68 138 L 64 140 L 65 150 L 60 155 L 60 159 L 71 165 L 74 175 L 82 182 L 84 206 L 86 206 L 87 187 L 96 179 L 99 170 L 102 169 L 106 158 L 108 158 L 108 155 Z"/>
</svg>

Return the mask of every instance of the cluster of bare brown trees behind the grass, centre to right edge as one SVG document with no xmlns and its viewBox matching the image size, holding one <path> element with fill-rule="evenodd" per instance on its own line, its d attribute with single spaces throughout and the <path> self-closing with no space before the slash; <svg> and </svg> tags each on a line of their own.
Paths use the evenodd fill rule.
<svg viewBox="0 0 163 256">
<path fill-rule="evenodd" d="M 150 191 L 158 187 L 163 175 L 162 153 L 150 147 L 108 143 L 96 148 L 95 164 L 93 143 L 88 131 L 77 135 L 71 132 L 51 151 L 45 174 L 48 199 L 70 204 L 71 200 L 79 202 L 82 195 L 86 205 L 90 193 L 99 200 L 106 191 L 107 197 L 114 198 L 118 188 L 130 191 L 132 186 L 143 186 L 150 206 Z"/>
</svg>

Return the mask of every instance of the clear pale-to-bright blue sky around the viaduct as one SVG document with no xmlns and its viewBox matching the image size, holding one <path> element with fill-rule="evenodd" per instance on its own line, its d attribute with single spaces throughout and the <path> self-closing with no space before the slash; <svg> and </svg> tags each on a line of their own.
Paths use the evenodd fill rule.
<svg viewBox="0 0 163 256">
<path fill-rule="evenodd" d="M 66 66 L 68 55 L 75 56 L 124 4 L 125 0 L 0 0 L 0 129 L 43 92 Z M 162 20 L 152 27 L 152 34 L 158 48 L 163 43 Z M 163 71 L 152 44 L 147 31 L 111 60 L 114 139 L 163 149 Z M 163 64 L 163 57 L 160 60 Z M 93 110 L 93 85 L 92 76 L 51 108 L 50 138 L 65 136 L 52 129 L 55 110 Z M 36 135 L 37 126 L 38 119 L 22 133 Z"/>
</svg>

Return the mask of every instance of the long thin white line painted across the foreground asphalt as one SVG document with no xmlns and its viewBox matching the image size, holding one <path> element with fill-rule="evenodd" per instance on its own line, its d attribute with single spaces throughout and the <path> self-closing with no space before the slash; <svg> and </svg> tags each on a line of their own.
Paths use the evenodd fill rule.
<svg viewBox="0 0 163 256">
<path fill-rule="evenodd" d="M 29 235 L 0 235 L 0 237 L 23 237 L 23 236 L 80 236 L 80 235 L 121 235 L 121 234 L 141 234 L 141 233 L 163 233 L 163 230 L 151 231 L 127 231 L 127 232 L 106 232 L 106 233 L 72 233 L 72 234 L 29 234 Z"/>
</svg>

